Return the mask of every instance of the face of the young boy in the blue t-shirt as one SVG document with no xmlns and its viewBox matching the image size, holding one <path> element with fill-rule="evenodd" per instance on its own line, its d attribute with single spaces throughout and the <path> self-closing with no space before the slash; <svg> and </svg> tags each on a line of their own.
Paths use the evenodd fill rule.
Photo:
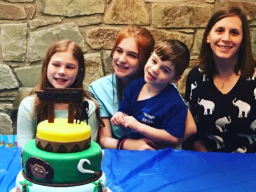
<svg viewBox="0 0 256 192">
<path fill-rule="evenodd" d="M 175 83 L 180 76 L 175 75 L 175 65 L 172 61 L 162 61 L 156 52 L 153 52 L 144 68 L 146 83 L 154 86 L 166 86 Z"/>
</svg>

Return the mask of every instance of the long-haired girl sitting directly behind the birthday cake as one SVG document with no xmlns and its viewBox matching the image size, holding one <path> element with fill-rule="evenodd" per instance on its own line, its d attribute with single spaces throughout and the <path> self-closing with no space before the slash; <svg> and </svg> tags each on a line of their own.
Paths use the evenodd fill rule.
<svg viewBox="0 0 256 192">
<path fill-rule="evenodd" d="M 35 138 L 37 124 L 47 120 L 47 104 L 36 97 L 35 91 L 44 88 L 83 88 L 84 69 L 83 51 L 75 42 L 60 40 L 49 47 L 42 65 L 40 84 L 20 102 L 17 116 L 19 147 L 23 147 L 27 141 Z M 84 97 L 83 100 L 89 103 L 88 124 L 92 128 L 92 140 L 95 141 L 99 127 L 97 120 L 99 106 L 88 93 L 84 92 Z M 54 104 L 54 116 L 67 118 L 68 104 Z"/>
</svg>

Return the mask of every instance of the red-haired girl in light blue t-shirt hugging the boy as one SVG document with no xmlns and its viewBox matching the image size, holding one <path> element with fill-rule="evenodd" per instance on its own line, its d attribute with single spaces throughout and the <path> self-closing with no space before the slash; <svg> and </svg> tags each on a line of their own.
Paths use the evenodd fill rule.
<svg viewBox="0 0 256 192">
<path fill-rule="evenodd" d="M 98 136 L 102 148 L 117 148 L 120 144 L 118 141 L 122 141 L 126 136 L 127 130 L 124 127 L 111 125 L 110 118 L 118 111 L 118 104 L 127 84 L 143 76 L 144 66 L 153 49 L 154 38 L 147 29 L 141 26 L 128 26 L 118 33 L 111 51 L 114 73 L 90 84 L 89 90 L 99 102 L 100 116 L 105 124 L 105 127 L 100 127 Z M 195 122 L 191 113 L 188 114 L 186 136 L 195 133 Z M 177 145 L 181 141 L 177 142 Z M 156 149 L 157 146 L 153 141 L 142 138 L 127 139 L 122 143 L 122 148 L 147 150 Z"/>
</svg>

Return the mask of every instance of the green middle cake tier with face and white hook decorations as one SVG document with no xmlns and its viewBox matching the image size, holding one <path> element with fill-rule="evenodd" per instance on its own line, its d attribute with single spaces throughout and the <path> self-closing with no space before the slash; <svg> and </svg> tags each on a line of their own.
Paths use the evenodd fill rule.
<svg viewBox="0 0 256 192">
<path fill-rule="evenodd" d="M 22 150 L 22 166 L 28 179 L 39 184 L 82 184 L 101 174 L 102 149 L 91 141 L 81 152 L 58 154 L 36 147 L 31 140 Z"/>
</svg>

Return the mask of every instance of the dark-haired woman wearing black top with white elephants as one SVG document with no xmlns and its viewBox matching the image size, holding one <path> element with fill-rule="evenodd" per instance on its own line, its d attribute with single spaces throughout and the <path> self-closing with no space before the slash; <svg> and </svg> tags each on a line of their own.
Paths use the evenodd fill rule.
<svg viewBox="0 0 256 192">
<path fill-rule="evenodd" d="M 198 63 L 186 82 L 186 102 L 198 129 L 191 147 L 256 152 L 256 63 L 248 20 L 239 8 L 226 6 L 212 15 Z"/>
</svg>

